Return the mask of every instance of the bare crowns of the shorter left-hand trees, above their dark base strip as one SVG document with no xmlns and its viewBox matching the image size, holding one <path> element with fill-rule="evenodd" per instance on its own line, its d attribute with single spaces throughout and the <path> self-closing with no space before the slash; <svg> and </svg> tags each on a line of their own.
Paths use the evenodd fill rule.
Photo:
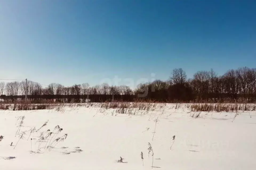
<svg viewBox="0 0 256 170">
<path fill-rule="evenodd" d="M 1 95 L 25 95 L 26 82 L 0 82 Z M 27 95 L 133 95 L 129 86 L 109 86 L 107 83 L 90 87 L 88 83 L 65 87 L 59 83 L 50 83 L 43 88 L 37 82 L 27 81 Z"/>
</svg>

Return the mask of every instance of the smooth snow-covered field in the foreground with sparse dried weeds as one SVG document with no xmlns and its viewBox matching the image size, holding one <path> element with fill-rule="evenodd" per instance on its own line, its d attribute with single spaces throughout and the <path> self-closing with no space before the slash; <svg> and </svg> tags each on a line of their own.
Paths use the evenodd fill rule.
<svg viewBox="0 0 256 170">
<path fill-rule="evenodd" d="M 201 112 L 193 118 L 186 104 L 178 109 L 175 104 L 157 104 L 154 109 L 135 110 L 130 115 L 85 106 L 1 110 L 0 135 L 4 137 L 0 142 L 0 169 L 151 169 L 148 143 L 154 152 L 153 169 L 256 169 L 255 111 L 241 111 L 236 117 L 235 112 Z M 18 130 L 17 118 L 23 115 Z M 47 125 L 39 129 L 47 120 Z M 37 140 L 41 133 L 46 137 L 48 129 L 53 132 L 56 125 L 63 130 L 58 134 L 55 130 L 49 139 L 64 134 L 67 138 L 53 143 L 49 151 L 45 148 L 50 143 L 47 138 Z M 39 130 L 29 137 L 34 126 Z M 15 137 L 17 130 L 19 134 L 25 131 L 23 139 L 19 140 L 19 134 Z M 15 149 L 11 142 L 14 146 L 18 142 Z M 117 162 L 120 156 L 124 163 Z"/>
</svg>

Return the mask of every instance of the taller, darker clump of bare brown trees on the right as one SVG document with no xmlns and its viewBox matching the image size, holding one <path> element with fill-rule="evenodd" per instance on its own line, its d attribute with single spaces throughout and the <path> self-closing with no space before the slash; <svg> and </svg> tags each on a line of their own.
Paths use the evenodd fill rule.
<svg viewBox="0 0 256 170">
<path fill-rule="evenodd" d="M 198 71 L 187 79 L 185 71 L 174 69 L 168 81 L 140 84 L 135 94 L 163 101 L 256 101 L 256 69 L 242 67 L 218 76 L 212 69 Z"/>
</svg>

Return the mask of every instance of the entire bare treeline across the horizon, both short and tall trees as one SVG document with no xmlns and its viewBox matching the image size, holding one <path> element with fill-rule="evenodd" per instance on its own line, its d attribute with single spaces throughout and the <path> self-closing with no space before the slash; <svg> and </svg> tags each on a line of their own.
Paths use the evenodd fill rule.
<svg viewBox="0 0 256 170">
<path fill-rule="evenodd" d="M 25 81 L 0 82 L 1 95 L 7 99 L 24 99 Z M 217 75 L 213 69 L 198 71 L 188 79 L 181 68 L 174 69 L 166 81 L 155 80 L 141 83 L 135 90 L 129 86 L 109 86 L 107 83 L 90 87 L 88 83 L 65 87 L 59 83 L 50 83 L 43 87 L 37 82 L 27 82 L 27 95 L 30 100 L 56 99 L 60 102 L 91 101 L 134 101 L 153 100 L 163 102 L 247 102 L 256 101 L 256 69 L 241 67 Z M 18 97 L 19 96 L 19 97 Z"/>
</svg>

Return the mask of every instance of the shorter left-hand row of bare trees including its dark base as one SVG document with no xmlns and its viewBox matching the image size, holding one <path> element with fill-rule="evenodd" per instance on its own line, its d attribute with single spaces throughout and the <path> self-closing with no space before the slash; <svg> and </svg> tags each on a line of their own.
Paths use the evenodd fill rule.
<svg viewBox="0 0 256 170">
<path fill-rule="evenodd" d="M 26 81 L 0 82 L 2 99 L 25 99 Z M 27 81 L 27 95 L 31 100 L 51 100 L 59 102 L 92 102 L 123 100 L 133 101 L 134 92 L 129 86 L 109 86 L 107 83 L 90 87 L 88 83 L 65 87 L 59 83 L 50 83 L 42 87 L 37 82 Z"/>
</svg>

